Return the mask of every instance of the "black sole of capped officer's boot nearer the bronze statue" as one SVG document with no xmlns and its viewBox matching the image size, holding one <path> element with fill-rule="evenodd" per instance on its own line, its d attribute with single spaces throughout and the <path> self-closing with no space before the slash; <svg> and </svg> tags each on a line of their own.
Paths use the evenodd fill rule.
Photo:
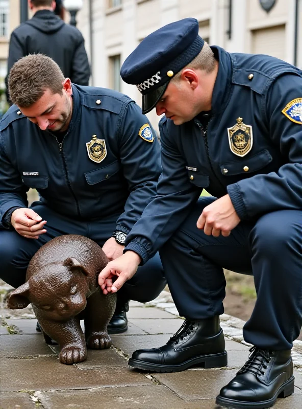
<svg viewBox="0 0 302 409">
<path fill-rule="evenodd" d="M 140 361 L 138 359 L 130 358 L 128 365 L 136 369 L 142 369 L 149 372 L 179 372 L 184 371 L 194 365 L 199 365 L 203 368 L 221 368 L 228 365 L 228 353 L 226 351 L 219 354 L 200 355 L 180 365 L 158 365 L 157 363 L 150 363 Z"/>
</svg>

